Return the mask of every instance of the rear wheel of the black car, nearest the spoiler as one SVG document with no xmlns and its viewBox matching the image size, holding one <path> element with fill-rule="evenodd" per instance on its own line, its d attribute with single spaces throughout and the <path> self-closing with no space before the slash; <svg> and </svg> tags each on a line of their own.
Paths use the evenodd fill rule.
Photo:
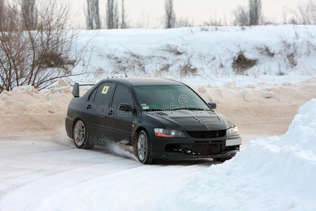
<svg viewBox="0 0 316 211">
<path fill-rule="evenodd" d="M 89 142 L 88 130 L 86 129 L 83 120 L 74 122 L 72 133 L 74 137 L 74 145 L 77 146 L 77 148 L 91 149 L 94 147 L 94 144 Z"/>
</svg>

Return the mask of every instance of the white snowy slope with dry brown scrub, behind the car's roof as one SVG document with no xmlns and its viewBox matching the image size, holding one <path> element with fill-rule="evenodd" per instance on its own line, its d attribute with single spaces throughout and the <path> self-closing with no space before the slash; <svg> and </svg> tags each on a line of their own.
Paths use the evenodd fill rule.
<svg viewBox="0 0 316 211">
<path fill-rule="evenodd" d="M 124 77 L 124 70 L 129 77 L 171 77 L 213 86 L 296 83 L 316 75 L 315 25 L 81 30 L 77 49 L 83 46 L 84 66 L 74 72 L 88 67 L 88 73 L 72 77 L 72 82 Z M 242 75 L 232 68 L 239 51 L 258 59 Z"/>
</svg>

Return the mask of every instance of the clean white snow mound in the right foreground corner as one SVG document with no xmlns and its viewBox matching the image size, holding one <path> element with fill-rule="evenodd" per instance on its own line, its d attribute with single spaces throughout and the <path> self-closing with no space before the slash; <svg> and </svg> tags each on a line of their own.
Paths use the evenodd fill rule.
<svg viewBox="0 0 316 211">
<path fill-rule="evenodd" d="M 316 210 L 316 99 L 283 136 L 251 141 L 173 191 L 159 210 Z M 166 196 L 159 200 L 166 200 Z"/>
</svg>

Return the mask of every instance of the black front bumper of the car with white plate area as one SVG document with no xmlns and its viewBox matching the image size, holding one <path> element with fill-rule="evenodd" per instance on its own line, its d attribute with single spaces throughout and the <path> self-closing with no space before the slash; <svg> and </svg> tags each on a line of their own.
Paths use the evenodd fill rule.
<svg viewBox="0 0 316 211">
<path fill-rule="evenodd" d="M 151 155 L 153 158 L 174 160 L 197 158 L 232 158 L 242 144 L 240 136 L 216 139 L 172 138 L 152 136 Z"/>
</svg>

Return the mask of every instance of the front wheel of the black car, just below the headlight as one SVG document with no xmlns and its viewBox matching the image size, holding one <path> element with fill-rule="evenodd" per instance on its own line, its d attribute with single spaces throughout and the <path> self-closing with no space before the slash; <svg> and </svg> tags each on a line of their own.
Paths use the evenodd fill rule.
<svg viewBox="0 0 316 211">
<path fill-rule="evenodd" d="M 134 148 L 135 155 L 138 158 L 139 162 L 143 164 L 153 164 L 156 161 L 150 155 L 150 138 L 145 130 L 141 130 L 137 134 Z"/>
</svg>

